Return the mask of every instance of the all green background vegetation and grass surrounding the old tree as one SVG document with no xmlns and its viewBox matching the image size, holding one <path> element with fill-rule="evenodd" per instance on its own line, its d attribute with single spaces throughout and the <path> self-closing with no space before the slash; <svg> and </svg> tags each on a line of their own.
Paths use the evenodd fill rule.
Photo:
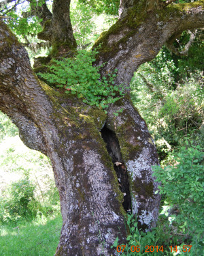
<svg viewBox="0 0 204 256">
<path fill-rule="evenodd" d="M 118 4 L 119 1 L 72 1 L 71 20 L 79 48 L 88 50 L 100 33 L 114 23 Z M 29 5 L 22 7 L 24 11 L 29 9 Z M 12 19 L 7 23 L 21 42 L 32 42 L 28 51 L 33 62 L 33 57 L 46 55 L 51 49 L 38 47 L 36 33 L 40 27 L 35 19 L 24 18 L 21 10 L 10 12 Z M 160 167 L 154 167 L 154 175 L 160 182 L 157 193 L 162 195 L 162 202 L 158 225 L 151 232 L 139 232 L 135 217 L 127 217 L 129 251 L 124 250 L 122 255 L 203 255 L 203 30 L 196 33 L 188 55 L 178 57 L 164 46 L 133 77 L 133 103 L 146 120 L 158 150 Z M 182 51 L 189 37 L 185 31 L 175 46 Z M 86 55 L 90 53 L 84 52 Z M 78 68 L 86 64 L 81 56 Z M 98 79 L 97 72 L 92 71 Z M 80 69 L 78 72 L 80 76 Z M 87 79 L 87 84 L 92 85 L 92 74 Z M 74 80 L 73 76 L 72 87 Z M 90 96 L 88 101 L 95 98 Z M 50 160 L 25 147 L 16 126 L 2 113 L 0 183 L 0 255 L 54 255 L 62 221 Z M 183 252 L 185 244 L 192 245 L 190 252 Z M 131 252 L 131 246 L 143 250 L 146 245 L 154 246 L 154 252 Z M 117 238 L 114 246 L 118 246 Z M 160 246 L 163 251 L 159 251 Z"/>
</svg>

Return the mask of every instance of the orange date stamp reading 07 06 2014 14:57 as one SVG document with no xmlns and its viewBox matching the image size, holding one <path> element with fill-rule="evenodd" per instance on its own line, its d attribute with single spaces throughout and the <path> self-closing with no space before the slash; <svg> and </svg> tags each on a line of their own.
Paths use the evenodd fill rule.
<svg viewBox="0 0 204 256">
<path fill-rule="evenodd" d="M 189 253 L 191 247 L 192 247 L 192 245 L 184 244 L 183 248 L 180 248 L 180 250 L 178 250 L 177 245 L 176 246 L 172 246 L 172 245 L 169 246 L 171 253 L 172 252 L 177 253 L 178 251 L 183 251 L 184 253 Z M 123 253 L 125 248 L 126 248 L 126 245 L 118 245 L 116 247 L 116 251 L 117 251 L 117 253 Z M 162 252 L 163 253 L 164 249 L 163 249 L 163 245 L 162 246 L 146 245 L 143 250 L 141 250 L 139 245 L 137 245 L 137 246 L 132 245 L 131 246 L 131 252 L 132 253 L 139 253 L 140 251 L 143 252 L 143 253 L 154 253 L 154 252 L 156 252 L 156 253 Z"/>
</svg>

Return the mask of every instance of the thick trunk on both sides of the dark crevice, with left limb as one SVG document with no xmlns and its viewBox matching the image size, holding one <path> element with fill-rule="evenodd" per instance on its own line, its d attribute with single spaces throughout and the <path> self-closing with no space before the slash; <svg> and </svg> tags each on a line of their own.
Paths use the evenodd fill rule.
<svg viewBox="0 0 204 256">
<path fill-rule="evenodd" d="M 157 157 L 145 122 L 128 97 L 105 115 L 54 91 L 37 80 L 26 51 L 2 22 L 0 39 L 0 109 L 22 141 L 52 162 L 63 216 L 56 255 L 114 255 L 116 237 L 125 242 L 124 214 L 132 205 L 144 229 L 157 218 L 151 177 Z"/>
</svg>

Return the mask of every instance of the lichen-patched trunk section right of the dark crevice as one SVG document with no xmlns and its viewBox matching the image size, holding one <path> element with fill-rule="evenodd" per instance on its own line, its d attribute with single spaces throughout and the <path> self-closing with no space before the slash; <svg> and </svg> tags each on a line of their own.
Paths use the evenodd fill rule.
<svg viewBox="0 0 204 256">
<path fill-rule="evenodd" d="M 120 143 L 124 171 L 128 171 L 133 214 L 137 214 L 139 228 L 150 230 L 156 226 L 159 195 L 155 195 L 158 184 L 152 178 L 152 165 L 158 165 L 154 141 L 146 123 L 131 100 L 126 96 L 109 109 L 107 128 L 116 133 Z M 114 112 L 122 106 L 123 113 L 114 118 Z"/>
</svg>

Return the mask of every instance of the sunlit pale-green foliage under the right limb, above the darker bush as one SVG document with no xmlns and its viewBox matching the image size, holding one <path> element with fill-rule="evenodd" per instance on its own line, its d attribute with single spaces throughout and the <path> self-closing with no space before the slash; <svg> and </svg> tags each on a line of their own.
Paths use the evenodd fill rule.
<svg viewBox="0 0 204 256">
<path fill-rule="evenodd" d="M 148 123 L 160 160 L 185 145 L 186 138 L 195 145 L 204 143 L 202 72 L 194 67 L 186 74 L 183 68 L 163 48 L 139 68 L 131 83 L 133 102 Z"/>
</svg>

